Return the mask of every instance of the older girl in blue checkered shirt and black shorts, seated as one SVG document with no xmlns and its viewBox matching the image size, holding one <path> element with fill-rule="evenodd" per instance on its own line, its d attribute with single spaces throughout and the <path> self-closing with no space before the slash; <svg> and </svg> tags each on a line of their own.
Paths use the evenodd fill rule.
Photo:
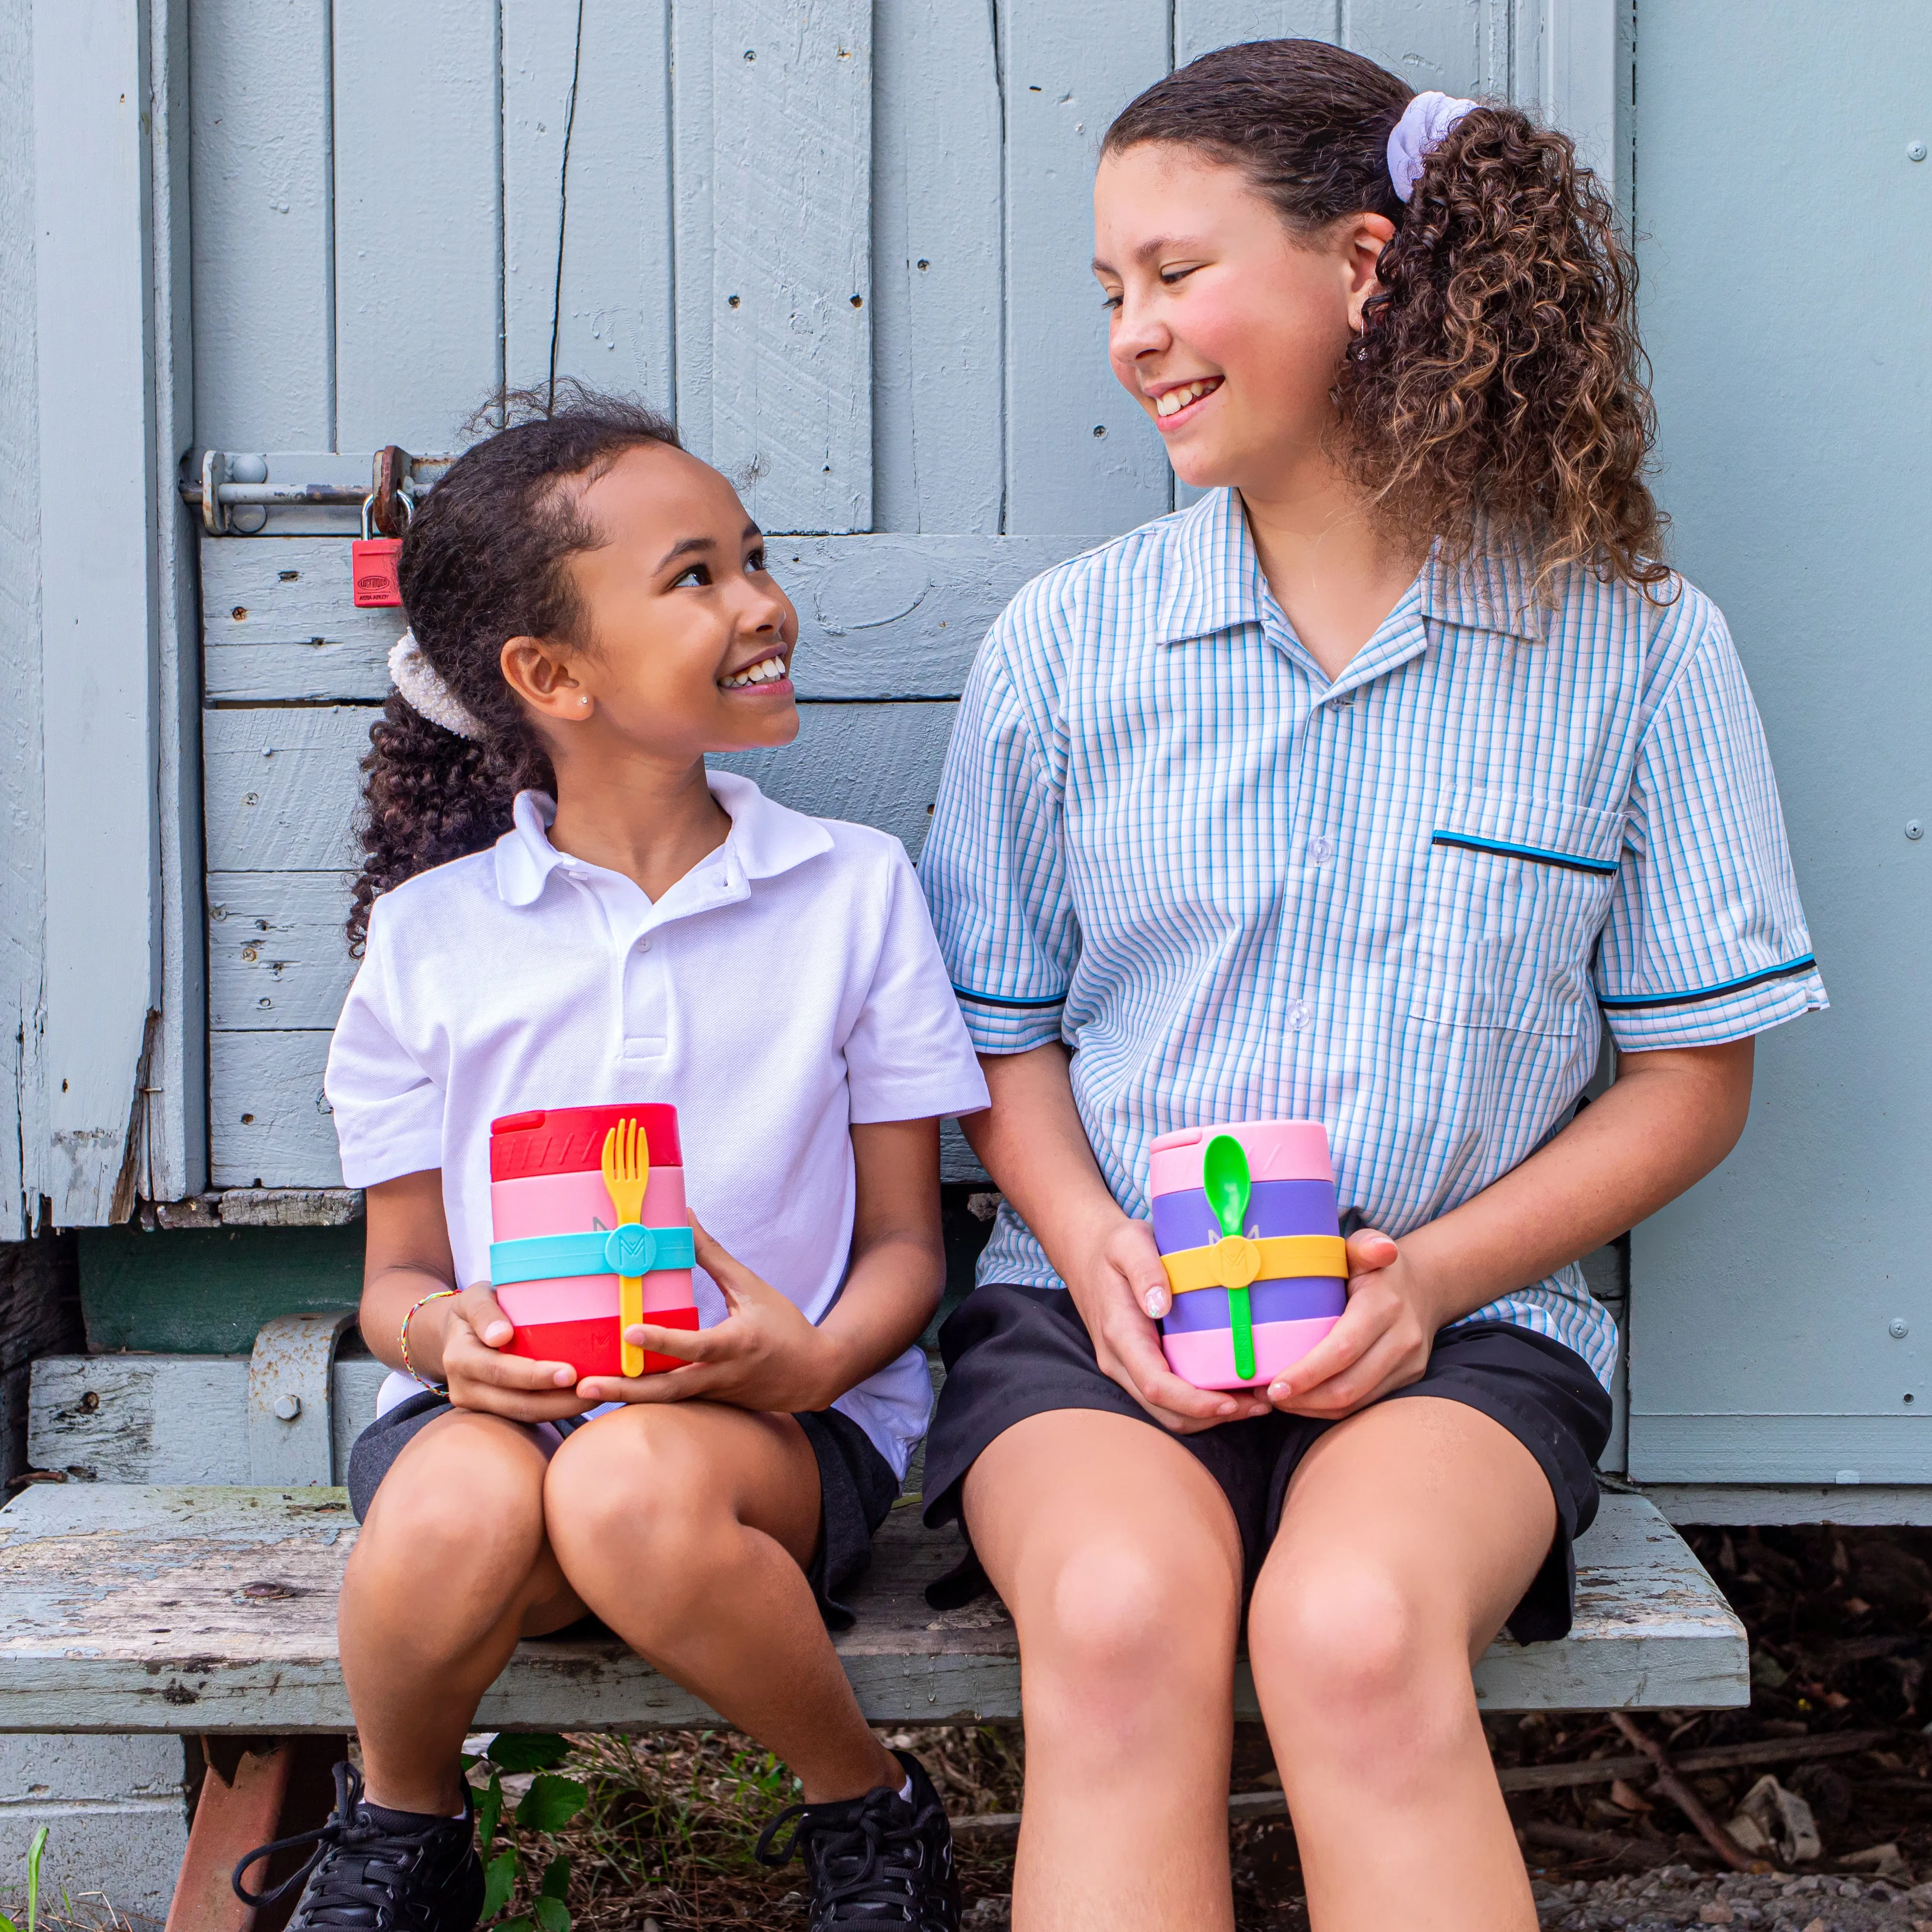
<svg viewBox="0 0 1932 1932">
<path fill-rule="evenodd" d="M 1470 1662 L 1571 1623 L 1617 1352 L 1578 1258 L 1824 1005 L 1764 738 L 1660 562 L 1563 135 L 1229 46 L 1121 114 L 1094 214 L 1115 375 L 1204 495 L 1014 599 L 922 858 L 1005 1194 L 925 1513 L 1018 1623 L 1014 1928 L 1231 1924 L 1246 1623 L 1320 1932 L 1528 1932 Z M 1202 1391 L 1148 1148 L 1271 1117 L 1327 1124 L 1347 1312 Z"/>
</svg>

